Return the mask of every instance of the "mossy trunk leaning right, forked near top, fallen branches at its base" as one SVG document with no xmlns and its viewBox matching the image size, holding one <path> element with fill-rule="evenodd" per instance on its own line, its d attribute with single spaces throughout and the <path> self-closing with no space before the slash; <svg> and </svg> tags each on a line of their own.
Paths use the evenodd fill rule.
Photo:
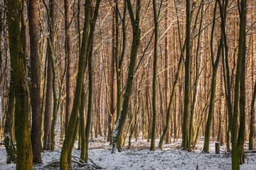
<svg viewBox="0 0 256 170">
<path fill-rule="evenodd" d="M 61 149 L 60 154 L 60 169 L 68 169 L 68 162 L 71 162 L 71 151 L 73 149 L 73 145 L 75 142 L 75 136 L 77 135 L 76 131 L 78 125 L 78 110 L 81 101 L 82 94 L 82 85 L 85 76 L 85 67 L 87 65 L 87 57 L 89 55 L 89 50 L 92 45 L 93 33 L 95 30 L 95 23 L 97 21 L 98 9 L 100 6 L 100 0 L 97 0 L 95 10 L 93 13 L 93 18 L 91 17 L 91 13 L 93 10 L 92 1 L 85 1 L 85 23 L 82 33 L 82 45 L 79 53 L 78 60 L 78 78 L 76 81 L 75 87 L 75 96 L 73 102 L 73 108 L 70 115 L 70 121 L 68 123 L 68 129 L 65 135 L 65 140 L 63 142 L 63 147 Z M 92 18 L 92 21 L 90 21 Z M 90 25 L 91 23 L 91 25 Z M 89 26 L 90 26 L 90 34 L 89 34 Z"/>
</svg>

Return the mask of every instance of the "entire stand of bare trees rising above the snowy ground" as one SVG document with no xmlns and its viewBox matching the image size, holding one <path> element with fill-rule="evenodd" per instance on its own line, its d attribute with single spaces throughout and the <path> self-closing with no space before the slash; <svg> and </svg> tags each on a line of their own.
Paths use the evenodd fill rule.
<svg viewBox="0 0 256 170">
<path fill-rule="evenodd" d="M 76 140 L 87 163 L 99 135 L 113 153 L 139 136 L 191 152 L 204 136 L 239 169 L 255 149 L 255 14 L 254 0 L 1 0 L 7 162 L 32 169 L 62 145 L 69 169 Z"/>
</svg>

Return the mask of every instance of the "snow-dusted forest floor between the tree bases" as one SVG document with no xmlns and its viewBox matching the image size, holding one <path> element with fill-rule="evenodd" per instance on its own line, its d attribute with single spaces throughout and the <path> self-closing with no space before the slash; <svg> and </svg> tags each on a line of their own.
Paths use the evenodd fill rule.
<svg viewBox="0 0 256 170">
<path fill-rule="evenodd" d="M 156 145 L 158 145 L 156 140 Z M 78 143 L 76 142 L 75 148 Z M 105 142 L 103 137 L 90 140 L 89 158 L 102 167 L 102 169 L 231 169 L 231 154 L 226 152 L 226 147 L 220 147 L 220 154 L 215 154 L 215 142 L 210 142 L 210 154 L 202 152 L 203 140 L 199 140 L 198 145 L 192 152 L 181 150 L 181 140 L 164 145 L 163 150 L 149 150 L 150 143 L 138 138 L 137 142 L 132 140 L 132 148 L 124 147 L 122 152 L 111 153 L 109 142 Z M 247 148 L 247 147 L 245 147 Z M 43 164 L 33 165 L 33 169 L 58 169 L 60 158 L 60 147 L 56 147 L 54 152 L 43 152 Z M 73 160 L 79 161 L 80 151 L 73 149 Z M 92 162 L 90 166 L 79 167 L 73 163 L 73 169 L 95 169 Z M 0 170 L 15 169 L 15 164 L 6 164 L 6 150 L 0 146 Z M 245 154 L 245 164 L 240 169 L 256 169 L 256 154 Z"/>
</svg>

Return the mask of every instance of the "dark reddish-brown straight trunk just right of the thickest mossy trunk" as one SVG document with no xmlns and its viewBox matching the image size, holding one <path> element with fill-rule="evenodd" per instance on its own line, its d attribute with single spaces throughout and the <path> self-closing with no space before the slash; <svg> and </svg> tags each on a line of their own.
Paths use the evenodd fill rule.
<svg viewBox="0 0 256 170">
<path fill-rule="evenodd" d="M 33 163 L 41 164 L 41 80 L 38 46 L 37 1 L 30 0 L 28 6 L 30 57 L 31 57 L 31 145 Z"/>
</svg>

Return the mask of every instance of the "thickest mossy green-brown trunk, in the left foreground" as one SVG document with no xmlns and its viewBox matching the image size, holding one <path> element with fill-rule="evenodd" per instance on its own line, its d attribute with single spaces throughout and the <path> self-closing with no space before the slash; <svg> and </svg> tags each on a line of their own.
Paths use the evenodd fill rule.
<svg viewBox="0 0 256 170">
<path fill-rule="evenodd" d="M 17 145 L 16 169 L 32 169 L 32 151 L 29 132 L 28 87 L 21 47 L 20 3 L 7 1 L 7 21 L 9 27 L 9 51 L 11 57 L 11 80 L 14 83 L 15 135 Z"/>
</svg>

